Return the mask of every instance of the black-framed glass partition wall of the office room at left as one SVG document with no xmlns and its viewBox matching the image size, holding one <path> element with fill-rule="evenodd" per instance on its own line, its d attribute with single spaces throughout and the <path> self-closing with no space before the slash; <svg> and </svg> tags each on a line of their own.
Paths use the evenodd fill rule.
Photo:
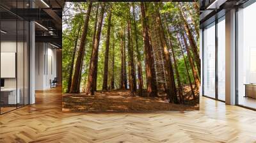
<svg viewBox="0 0 256 143">
<path fill-rule="evenodd" d="M 28 6 L 25 3 L 11 4 L 24 8 Z M 0 15 L 0 114 L 3 114 L 29 104 L 29 22 L 3 7 L 0 11 L 9 15 Z"/>
</svg>

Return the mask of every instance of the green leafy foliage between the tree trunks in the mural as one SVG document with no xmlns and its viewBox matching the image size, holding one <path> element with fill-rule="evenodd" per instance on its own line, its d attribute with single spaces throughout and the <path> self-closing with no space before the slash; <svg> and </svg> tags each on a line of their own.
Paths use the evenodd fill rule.
<svg viewBox="0 0 256 143">
<path fill-rule="evenodd" d="M 97 4 L 93 2 L 93 8 L 90 15 L 89 26 L 88 26 L 88 33 L 86 38 L 86 45 L 85 45 L 85 54 L 84 54 L 84 61 L 83 61 L 83 69 L 81 75 L 81 87 L 84 89 L 86 87 L 86 80 L 88 78 L 88 69 L 90 64 L 90 58 L 92 53 L 92 38 L 93 38 L 93 31 L 94 31 L 94 24 L 95 24 L 95 16 L 96 16 L 96 9 Z M 100 3 L 102 4 L 102 3 Z M 150 26 L 150 32 L 154 33 L 156 31 L 152 30 L 154 28 L 154 24 L 156 24 L 156 20 L 154 19 L 154 15 L 156 15 L 156 3 L 145 3 L 147 7 L 147 22 Z M 71 6 L 70 6 L 71 5 Z M 179 3 L 158 3 L 161 19 L 163 24 L 166 24 L 168 28 L 171 29 L 172 41 L 175 50 L 175 56 L 177 58 L 177 66 L 180 74 L 180 81 L 182 84 L 188 84 L 188 74 L 186 73 L 186 68 L 184 66 L 184 59 L 180 53 L 180 45 L 179 41 L 177 40 L 177 35 L 183 30 L 182 27 L 179 27 L 180 22 L 180 15 L 179 15 Z M 179 5 L 179 6 L 178 6 Z M 189 26 L 195 31 L 196 26 L 193 25 L 193 22 L 198 22 L 198 16 L 196 16 L 196 12 L 193 10 L 193 3 L 186 3 L 181 4 L 182 10 L 186 14 L 186 18 L 188 18 Z M 65 28 L 63 29 L 63 93 L 67 91 L 67 82 L 70 68 L 74 68 L 73 65 L 70 65 L 72 61 L 72 54 L 75 49 L 75 41 L 76 37 L 78 36 L 78 42 L 76 49 L 79 49 L 80 41 L 81 41 L 81 33 L 83 31 L 84 19 L 86 15 L 86 10 L 88 7 L 88 3 L 68 3 L 64 8 L 65 15 L 63 24 Z M 118 88 L 120 85 L 120 71 L 121 71 L 121 31 L 125 30 L 127 32 L 127 21 L 129 20 L 129 12 L 131 15 L 131 19 L 133 19 L 132 15 L 132 3 L 106 3 L 106 11 L 104 13 L 104 21 L 102 27 L 102 33 L 100 36 L 100 45 L 99 45 L 99 56 L 98 56 L 98 71 L 97 71 L 97 89 L 102 89 L 102 80 L 103 80 L 103 72 L 104 72 L 104 56 L 105 56 L 105 47 L 106 47 L 106 33 L 107 33 L 107 15 L 109 10 L 112 11 L 111 17 L 111 36 L 110 36 L 110 44 L 109 44 L 109 61 L 108 61 L 108 85 L 110 85 L 111 77 L 112 77 L 112 57 L 115 57 L 115 64 L 114 64 L 114 79 L 115 79 L 115 88 Z M 143 69 L 143 79 L 144 79 L 144 88 L 146 87 L 146 73 L 145 73 L 145 54 L 144 54 L 144 47 L 143 47 L 143 35 L 142 35 L 142 26 L 141 26 L 141 13 L 140 13 L 140 3 L 134 3 L 134 10 L 135 10 L 135 24 L 137 27 L 138 33 L 138 49 L 140 52 L 141 64 Z M 68 15 L 68 16 L 67 16 Z M 166 20 L 164 20 L 167 18 Z M 99 20 L 99 16 L 98 16 Z M 193 21 L 194 20 L 194 21 Z M 196 23 L 198 24 L 198 23 Z M 198 24 L 199 25 L 199 24 Z M 81 29 L 79 31 L 79 26 Z M 166 34 L 166 39 L 168 36 L 168 31 L 164 27 L 164 33 Z M 134 29 L 134 21 L 132 20 L 131 26 L 131 33 L 132 33 L 132 41 L 133 41 L 133 49 L 134 49 L 134 59 L 135 59 L 135 66 L 136 64 L 136 45 L 135 40 L 135 29 Z M 78 34 L 79 32 L 79 34 Z M 194 32 L 195 37 L 197 36 Z M 125 47 L 126 47 L 126 59 L 127 63 L 127 75 L 128 75 L 128 54 L 127 54 L 127 33 L 125 33 Z M 152 35 L 156 36 L 156 35 Z M 159 38 L 152 38 L 152 43 L 159 43 Z M 197 40 L 195 38 L 195 40 Z M 167 40 L 169 43 L 169 40 Z M 113 45 L 115 45 L 115 52 L 113 52 Z M 159 47 L 158 47 L 159 48 Z M 156 52 L 156 51 L 154 51 Z M 186 54 L 186 52 L 185 52 Z M 77 53 L 76 53 L 77 55 Z M 187 58 L 187 57 L 186 57 Z M 76 56 L 75 56 L 75 63 L 76 63 Z M 138 69 L 136 66 L 136 75 L 138 73 Z M 191 69 L 189 68 L 189 75 L 192 77 Z M 193 79 L 193 78 L 191 78 Z M 83 90 L 82 90 L 83 91 Z"/>
</svg>

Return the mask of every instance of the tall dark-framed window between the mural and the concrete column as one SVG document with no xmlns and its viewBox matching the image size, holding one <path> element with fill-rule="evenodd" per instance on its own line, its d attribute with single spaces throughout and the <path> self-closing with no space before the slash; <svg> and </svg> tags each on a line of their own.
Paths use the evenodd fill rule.
<svg viewBox="0 0 256 143">
<path fill-rule="evenodd" d="M 225 101 L 225 16 L 203 30 L 203 96 Z"/>
</svg>

